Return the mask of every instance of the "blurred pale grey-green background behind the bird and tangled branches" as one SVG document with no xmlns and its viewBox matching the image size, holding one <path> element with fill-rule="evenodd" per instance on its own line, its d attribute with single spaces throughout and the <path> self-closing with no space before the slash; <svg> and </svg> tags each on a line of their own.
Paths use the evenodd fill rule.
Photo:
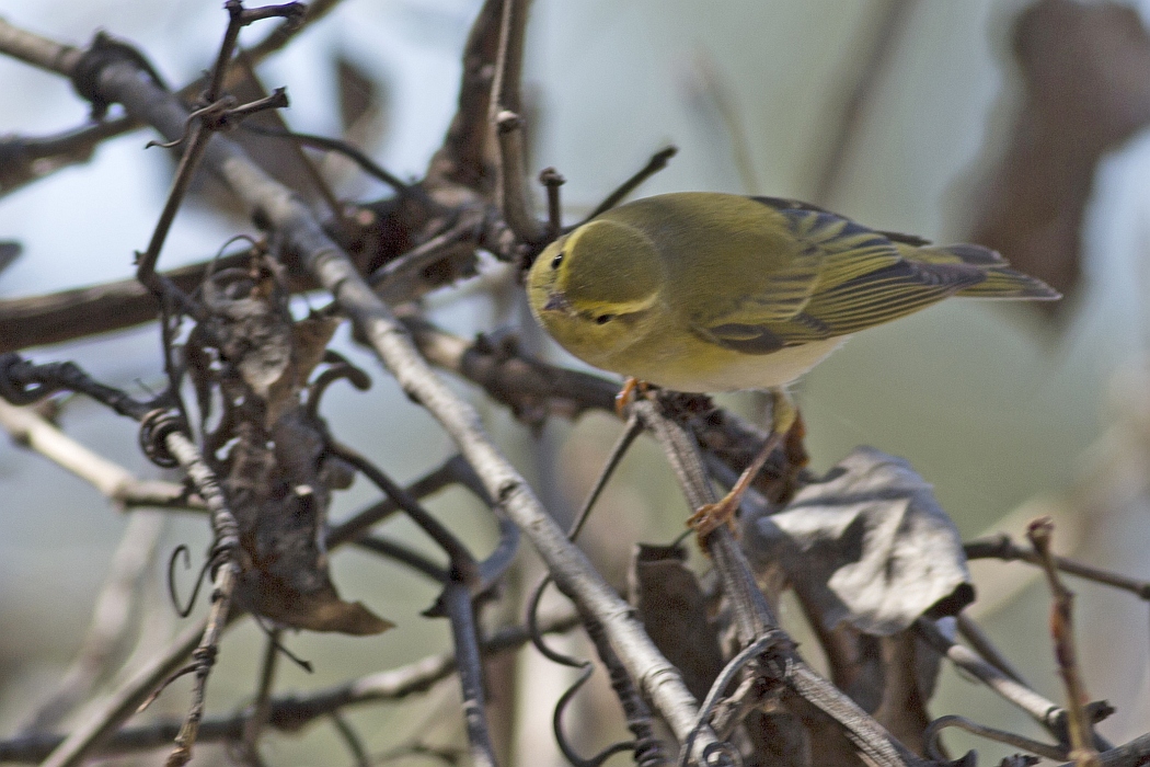
<svg viewBox="0 0 1150 767">
<path fill-rule="evenodd" d="M 288 86 L 292 106 L 284 117 L 292 128 L 345 135 L 393 172 L 419 176 L 453 114 L 459 55 L 478 6 L 345 0 L 260 75 L 269 87 Z M 941 241 L 976 238 L 1049 279 L 1067 294 L 1059 306 L 949 301 L 852 339 L 797 386 L 814 467 L 873 445 L 910 459 L 965 538 L 1018 534 L 1034 516 L 1051 514 L 1059 552 L 1150 578 L 1147 13 L 1150 2 L 1072 0 L 535 0 L 524 75 L 530 170 L 554 166 L 566 176 L 566 215 L 574 221 L 652 152 L 674 144 L 678 155 L 641 194 L 715 190 L 807 199 L 887 230 Z M 0 15 L 77 45 L 105 29 L 138 44 L 172 84 L 210 66 L 225 24 L 215 0 L 0 0 Z M 245 39 L 266 32 L 248 30 Z M 68 83 L 8 60 L 0 60 L 0 132 L 51 133 L 86 117 Z M 0 199 L 0 239 L 23 247 L 0 271 L 0 299 L 131 276 L 132 251 L 151 236 L 172 169 L 161 151 L 144 151 L 147 138 L 110 140 L 87 164 Z M 322 166 L 340 195 L 366 200 L 384 192 L 337 160 Z M 220 205 L 204 195 L 182 209 L 162 267 L 209 258 L 228 237 L 251 231 Z M 462 335 L 518 329 L 529 348 L 577 366 L 542 339 L 507 284 L 506 271 L 492 263 L 477 281 L 428 304 L 436 321 Z M 431 419 L 346 335 L 340 343 L 373 371 L 375 386 L 325 402 L 332 430 L 404 481 L 450 455 Z M 160 379 L 159 347 L 155 329 L 145 328 L 33 358 L 76 360 L 140 393 Z M 569 514 L 618 422 L 592 415 L 532 435 L 461 390 L 540 481 L 550 507 Z M 751 396 L 726 404 L 761 417 Z M 61 421 L 138 475 L 158 475 L 138 454 L 130 422 L 85 401 L 69 402 Z M 404 450 L 394 435 L 405 436 Z M 630 545 L 669 540 L 687 513 L 653 447 L 641 446 L 624 469 L 585 542 L 619 584 Z M 0 499 L 6 737 L 26 724 L 68 668 L 128 520 L 79 480 L 7 443 L 0 444 Z M 358 483 L 338 497 L 334 516 L 373 499 Z M 471 540 L 494 540 L 463 493 L 446 493 L 432 508 Z M 144 578 L 153 609 L 140 628 L 141 653 L 163 646 L 183 624 L 161 596 L 168 554 L 178 543 L 193 551 L 207 544 L 201 519 L 164 519 L 154 543 L 159 563 Z M 405 522 L 390 524 L 417 539 L 404 532 Z M 368 638 L 291 637 L 292 650 L 317 672 L 284 665 L 282 689 L 330 684 L 448 646 L 446 622 L 419 616 L 435 596 L 427 583 L 354 552 L 334 566 L 346 598 L 363 600 L 399 628 Z M 1021 565 L 975 562 L 972 569 L 980 591 L 974 615 L 1041 692 L 1061 700 L 1044 584 Z M 1147 606 L 1126 593 L 1080 582 L 1073 588 L 1087 687 L 1118 707 L 1102 731 L 1122 742 L 1150 721 Z M 251 696 L 261 644 L 252 627 L 228 637 L 209 684 L 212 710 L 230 711 Z M 559 672 L 530 655 L 519 661 L 520 677 L 559 684 Z M 560 689 L 524 689 L 511 735 L 520 764 L 562 764 L 550 735 Z M 181 715 L 186 692 L 175 685 L 156 713 Z M 458 720 L 443 712 L 457 697 L 446 683 L 414 705 L 370 706 L 351 719 L 373 753 L 420 731 L 429 743 L 453 743 Z M 589 730 L 596 705 L 582 712 L 592 721 Z M 952 669 L 931 713 L 1037 735 L 1022 714 Z M 297 736 L 273 734 L 264 756 L 269 764 L 332 764 L 332 738 L 319 724 Z M 956 753 L 976 745 L 982 764 L 1007 753 L 948 738 Z M 198 753 L 224 759 L 209 749 Z"/>
</svg>

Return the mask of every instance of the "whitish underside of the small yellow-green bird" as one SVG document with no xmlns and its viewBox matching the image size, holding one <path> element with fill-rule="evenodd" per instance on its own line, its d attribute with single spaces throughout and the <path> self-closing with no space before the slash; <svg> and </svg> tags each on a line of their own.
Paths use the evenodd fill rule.
<svg viewBox="0 0 1150 767">
<path fill-rule="evenodd" d="M 670 373 L 660 369 L 657 375 L 644 376 L 642 373 L 636 373 L 635 376 L 666 389 L 690 392 L 782 386 L 813 368 L 825 356 L 838 348 L 846 338 L 846 336 L 827 338 L 802 346 L 781 348 L 770 354 L 733 353 L 723 360 L 722 365 L 707 366 L 706 370 Z"/>
</svg>

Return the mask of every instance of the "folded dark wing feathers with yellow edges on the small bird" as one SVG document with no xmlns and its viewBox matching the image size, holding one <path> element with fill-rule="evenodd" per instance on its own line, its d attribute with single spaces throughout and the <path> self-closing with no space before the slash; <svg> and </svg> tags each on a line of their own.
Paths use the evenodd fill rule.
<svg viewBox="0 0 1150 767">
<path fill-rule="evenodd" d="M 925 241 L 919 238 L 896 236 L 896 240 L 887 232 L 814 206 L 756 199 L 785 217 L 799 244 L 803 266 L 783 271 L 779 289 L 772 275 L 768 291 L 702 323 L 700 335 L 728 348 L 767 354 L 784 346 L 848 336 L 917 312 L 986 279 L 980 266 L 961 256 L 954 262 L 934 263 L 904 258 Z M 792 276 L 808 277 L 812 267 L 818 274 L 804 283 L 807 294 L 803 301 L 790 301 L 785 312 L 764 306 L 770 302 L 773 292 L 784 292 Z"/>
</svg>

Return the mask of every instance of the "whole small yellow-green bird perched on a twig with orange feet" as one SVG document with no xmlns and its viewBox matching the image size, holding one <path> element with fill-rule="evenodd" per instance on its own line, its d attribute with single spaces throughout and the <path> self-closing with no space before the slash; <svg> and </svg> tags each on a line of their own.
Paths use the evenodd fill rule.
<svg viewBox="0 0 1150 767">
<path fill-rule="evenodd" d="M 785 386 L 853 333 L 951 296 L 1059 293 L 979 245 L 936 246 L 774 197 L 676 192 L 612 208 L 549 244 L 527 274 L 531 310 L 560 346 L 635 382 L 683 392 L 767 390 L 772 435 L 718 504 L 730 522 L 797 419 Z"/>
</svg>

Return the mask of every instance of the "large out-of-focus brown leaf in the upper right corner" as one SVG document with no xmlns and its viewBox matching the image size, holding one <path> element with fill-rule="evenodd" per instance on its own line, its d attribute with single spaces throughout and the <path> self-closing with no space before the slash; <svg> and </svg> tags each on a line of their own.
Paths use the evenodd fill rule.
<svg viewBox="0 0 1150 767">
<path fill-rule="evenodd" d="M 972 237 L 1068 294 L 1098 161 L 1150 123 L 1150 34 L 1125 5 L 1040 0 L 1013 39 L 1025 102 Z"/>
</svg>

